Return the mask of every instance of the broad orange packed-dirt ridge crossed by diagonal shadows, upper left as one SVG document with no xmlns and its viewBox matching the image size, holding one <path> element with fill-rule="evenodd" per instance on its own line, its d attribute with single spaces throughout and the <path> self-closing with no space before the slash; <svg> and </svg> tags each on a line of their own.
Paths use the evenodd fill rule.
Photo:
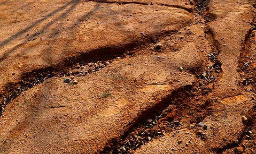
<svg viewBox="0 0 256 154">
<path fill-rule="evenodd" d="M 37 6 L 39 3 L 42 5 L 42 2 L 33 4 Z M 145 7 L 87 1 L 49 3 L 53 10 L 61 7 L 50 13 L 43 12 L 45 15 L 38 13 L 34 19 L 30 18 L 33 10 L 29 11 L 29 14 L 20 17 L 17 29 L 1 23 L 4 32 L 1 35 L 3 41 L 0 52 L 2 96 L 8 95 L 6 91 L 17 89 L 22 77 L 33 71 L 58 72 L 80 61 L 111 59 L 129 52 L 139 44 L 147 44 L 154 38 L 175 32 L 191 22 L 189 12 L 160 5 Z M 44 5 L 49 6 L 46 2 Z M 24 7 L 30 9 L 32 5 Z M 44 10 L 45 7 L 40 8 Z M 11 9 L 14 8 L 6 11 L 13 11 Z M 131 9 L 133 12 L 129 11 Z M 5 20 L 14 19 L 10 14 L 4 15 L 4 12 L 2 15 Z"/>
</svg>

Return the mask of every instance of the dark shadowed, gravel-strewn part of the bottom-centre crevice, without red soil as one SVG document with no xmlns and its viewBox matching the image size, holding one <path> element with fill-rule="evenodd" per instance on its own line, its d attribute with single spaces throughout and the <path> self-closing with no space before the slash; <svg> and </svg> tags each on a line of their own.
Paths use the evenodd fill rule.
<svg viewBox="0 0 256 154">
<path fill-rule="evenodd" d="M 181 97 L 192 97 L 188 93 L 190 93 L 193 87 L 194 85 L 186 85 L 185 87 L 179 88 L 171 92 L 155 106 L 145 110 L 145 112 L 137 116 L 137 119 L 130 126 L 126 126 L 126 132 L 122 136 L 108 141 L 107 146 L 99 153 L 131 153 L 151 139 L 157 139 L 162 136 L 166 130 L 157 127 L 162 122 L 168 123 L 167 125 L 174 129 L 179 127 L 179 121 L 174 121 L 176 116 L 175 109 L 169 109 L 168 106 L 172 105 L 173 101 Z M 182 105 L 182 102 L 180 102 L 180 105 Z M 137 133 L 135 134 L 135 132 Z M 137 138 L 138 136 L 139 138 Z M 124 148 L 126 150 L 123 150 Z"/>
</svg>

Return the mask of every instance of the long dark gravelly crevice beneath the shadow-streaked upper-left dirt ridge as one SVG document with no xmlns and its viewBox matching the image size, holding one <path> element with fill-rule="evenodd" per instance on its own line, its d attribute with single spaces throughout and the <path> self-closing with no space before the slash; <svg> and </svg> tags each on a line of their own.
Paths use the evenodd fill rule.
<svg viewBox="0 0 256 154">
<path fill-rule="evenodd" d="M 152 33 L 149 35 L 142 35 L 140 38 L 129 42 L 128 44 L 121 46 L 106 46 L 88 52 L 80 52 L 79 55 L 68 57 L 64 59 L 61 63 L 52 65 L 50 67 L 45 67 L 42 69 L 33 70 L 32 72 L 27 72 L 21 74 L 21 81 L 16 83 L 8 83 L 6 85 L 5 93 L 1 94 L 0 102 L 0 116 L 2 115 L 4 108 L 7 104 L 10 103 L 15 97 L 19 96 L 22 91 L 26 91 L 37 84 L 44 82 L 48 78 L 53 76 L 64 76 L 67 74 L 69 68 L 72 68 L 73 65 L 77 63 L 86 64 L 86 63 L 95 63 L 98 61 L 111 61 L 115 57 L 121 57 L 125 53 L 134 50 L 136 47 L 142 47 L 156 42 L 157 39 L 165 37 L 176 33 L 178 30 L 167 30 L 161 31 L 159 33 Z M 54 71 L 53 71 L 54 70 Z M 93 70 L 93 69 L 92 69 Z M 97 71 L 97 68 L 96 68 Z M 77 74 L 70 74 L 77 75 Z M 87 75 L 87 74 L 84 74 Z M 81 75 L 80 75 L 81 76 Z"/>
</svg>

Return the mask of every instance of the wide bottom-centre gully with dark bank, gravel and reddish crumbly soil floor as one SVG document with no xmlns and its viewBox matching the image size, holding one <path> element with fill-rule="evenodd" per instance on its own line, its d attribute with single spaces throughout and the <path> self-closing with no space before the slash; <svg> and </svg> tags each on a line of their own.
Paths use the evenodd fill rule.
<svg viewBox="0 0 256 154">
<path fill-rule="evenodd" d="M 221 69 L 221 64 L 215 58 L 208 58 L 208 61 L 215 62 L 213 67 L 210 68 L 212 71 Z M 204 70 L 202 67 L 204 66 L 201 65 L 199 68 L 193 68 L 190 70 L 190 73 L 195 75 L 203 74 L 200 72 Z M 208 72 L 211 71 L 209 70 Z M 213 112 L 210 106 L 213 100 L 207 98 L 210 92 L 206 92 L 208 89 L 204 85 L 200 86 L 200 81 L 207 82 L 205 85 L 216 82 L 218 80 L 218 73 L 216 75 L 216 78 L 212 81 L 198 78 L 193 85 L 187 85 L 170 93 L 155 107 L 146 110 L 142 115 L 138 116 L 131 126 L 126 127 L 127 131 L 124 135 L 108 141 L 107 146 L 100 153 L 133 153 L 137 148 L 150 142 L 152 139 L 160 138 L 164 133 L 181 129 L 180 119 L 184 115 L 191 116 L 191 124 L 200 123 L 205 117 L 212 115 Z M 199 101 L 205 102 L 199 106 L 193 104 L 193 102 L 198 101 L 198 96 L 204 96 L 203 100 Z M 198 138 L 203 137 L 198 135 Z"/>
</svg>

